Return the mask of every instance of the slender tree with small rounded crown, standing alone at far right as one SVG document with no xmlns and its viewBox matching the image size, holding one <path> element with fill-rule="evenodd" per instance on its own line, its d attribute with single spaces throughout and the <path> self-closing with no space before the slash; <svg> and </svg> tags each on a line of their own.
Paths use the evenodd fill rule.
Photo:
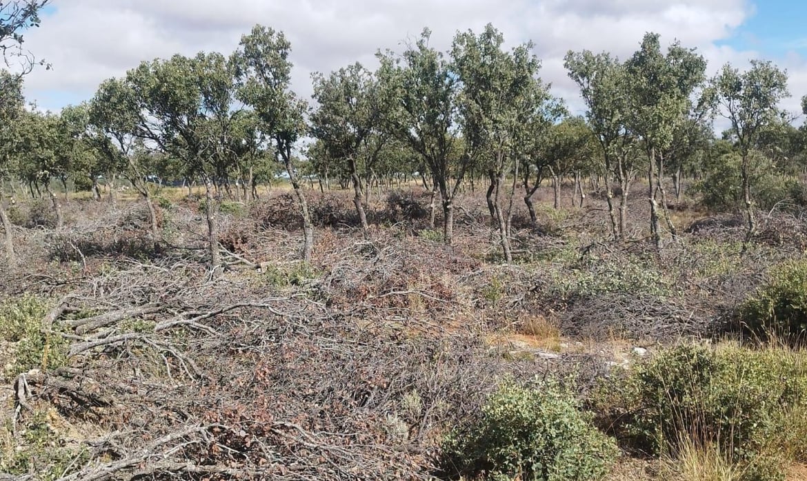
<svg viewBox="0 0 807 481">
<path fill-rule="evenodd" d="M 779 102 L 789 97 L 788 74 L 769 61 L 751 60 L 751 68 L 740 73 L 725 64 L 712 80 L 720 114 L 731 123 L 731 132 L 741 158 L 742 197 L 746 208 L 745 246 L 756 230 L 751 198 L 753 151 L 765 126 L 780 118 Z"/>
</svg>

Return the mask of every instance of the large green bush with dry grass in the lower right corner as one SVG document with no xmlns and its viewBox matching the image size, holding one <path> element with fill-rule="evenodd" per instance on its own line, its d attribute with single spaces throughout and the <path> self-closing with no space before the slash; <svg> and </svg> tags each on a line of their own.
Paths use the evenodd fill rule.
<svg viewBox="0 0 807 481">
<path fill-rule="evenodd" d="M 678 346 L 607 384 L 598 401 L 616 407 L 615 425 L 633 448 L 675 454 L 688 443 L 720 446 L 730 462 L 747 466 L 744 479 L 779 479 L 782 448 L 793 447 L 783 435 L 807 417 L 805 360 L 780 350 Z"/>
</svg>

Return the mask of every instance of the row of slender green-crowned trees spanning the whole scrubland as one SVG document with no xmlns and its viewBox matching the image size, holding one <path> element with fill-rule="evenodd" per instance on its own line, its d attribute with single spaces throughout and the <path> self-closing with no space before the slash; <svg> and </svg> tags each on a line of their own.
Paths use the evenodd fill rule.
<svg viewBox="0 0 807 481">
<path fill-rule="evenodd" d="M 38 22 L 44 3 L 31 4 L 29 23 Z M 709 206 L 744 209 L 746 240 L 771 176 L 790 182 L 790 193 L 801 189 L 807 137 L 780 110 L 787 74 L 770 62 L 752 61 L 745 72 L 726 64 L 708 78 L 695 49 L 677 42 L 663 49 L 654 33 L 626 60 L 568 52 L 565 66 L 587 107 L 575 117 L 541 81 L 532 44 L 506 50 L 491 25 L 458 32 L 446 52 L 429 39 L 426 29 L 403 52 L 378 52 L 375 70 L 356 63 L 314 73 L 310 104 L 291 89 L 290 42 L 261 25 L 229 55 L 144 61 L 59 114 L 25 109 L 23 75 L 2 71 L 0 215 L 7 219 L 9 193 L 27 191 L 52 202 L 61 226 L 54 182 L 66 191 L 72 180 L 100 200 L 99 180 L 122 178 L 144 198 L 157 234 L 150 180 L 198 182 L 217 266 L 221 199 L 253 199 L 256 186 L 281 171 L 303 220 L 303 259 L 314 238 L 306 178 L 320 189 L 351 189 L 365 235 L 371 187 L 416 179 L 432 192 L 433 206 L 440 202 L 448 245 L 458 193 L 481 183 L 510 261 L 514 199 L 537 222 L 533 195 L 545 180 L 554 185 L 555 207 L 564 181 L 574 186 L 573 205 L 582 206 L 592 189 L 604 191 L 612 236 L 625 240 L 631 189 L 643 179 L 656 244 L 678 233 L 667 205 L 682 196 L 684 179 L 696 180 Z M 730 126 L 720 138 L 713 133 L 718 115 Z M 303 139 L 312 141 L 303 146 Z"/>
</svg>

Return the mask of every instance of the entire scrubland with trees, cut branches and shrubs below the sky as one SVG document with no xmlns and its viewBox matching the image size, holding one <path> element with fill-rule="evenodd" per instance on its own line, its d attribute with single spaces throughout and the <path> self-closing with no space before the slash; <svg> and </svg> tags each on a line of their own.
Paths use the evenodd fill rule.
<svg viewBox="0 0 807 481">
<path fill-rule="evenodd" d="M 786 75 L 648 34 L 576 118 L 502 43 L 312 106 L 261 26 L 60 114 L 3 73 L 0 479 L 805 479 Z"/>
</svg>

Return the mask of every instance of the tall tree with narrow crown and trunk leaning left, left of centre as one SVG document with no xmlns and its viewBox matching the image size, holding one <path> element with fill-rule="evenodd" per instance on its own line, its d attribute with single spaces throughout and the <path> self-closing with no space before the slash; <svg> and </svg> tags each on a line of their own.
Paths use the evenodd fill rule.
<svg viewBox="0 0 807 481">
<path fill-rule="evenodd" d="M 255 110 L 278 159 L 286 167 L 303 217 L 303 260 L 314 247 L 314 224 L 293 164 L 293 151 L 308 126 L 306 102 L 291 91 L 291 43 L 281 31 L 256 25 L 233 56 L 238 99 Z"/>
</svg>

